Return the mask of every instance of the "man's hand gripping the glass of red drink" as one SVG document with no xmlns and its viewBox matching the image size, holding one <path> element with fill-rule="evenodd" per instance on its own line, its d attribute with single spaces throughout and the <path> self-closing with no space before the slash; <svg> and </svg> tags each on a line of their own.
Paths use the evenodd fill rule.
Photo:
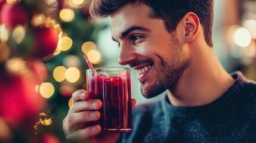
<svg viewBox="0 0 256 143">
<path fill-rule="evenodd" d="M 132 99 L 132 108 L 135 106 Z M 79 90 L 72 95 L 72 106 L 69 108 L 67 117 L 63 120 L 63 130 L 68 141 L 78 142 L 116 142 L 120 133 L 100 133 L 100 125 L 88 126 L 84 124 L 100 119 L 102 102 L 100 100 L 90 100 L 88 92 Z"/>
</svg>

